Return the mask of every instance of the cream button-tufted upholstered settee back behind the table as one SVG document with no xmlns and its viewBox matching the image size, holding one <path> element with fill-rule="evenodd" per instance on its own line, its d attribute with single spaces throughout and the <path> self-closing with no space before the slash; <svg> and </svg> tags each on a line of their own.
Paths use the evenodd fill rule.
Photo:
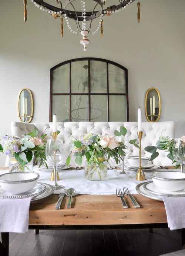
<svg viewBox="0 0 185 256">
<path fill-rule="evenodd" d="M 38 136 L 41 137 L 44 134 L 50 134 L 52 132 L 53 123 L 21 123 L 21 122 L 12 122 L 11 123 L 11 133 L 14 136 L 22 136 L 22 134 L 27 134 L 32 132 L 34 129 L 38 130 Z M 137 122 L 66 122 L 66 123 L 57 123 L 57 130 L 60 131 L 58 138 L 63 139 L 64 148 L 65 148 L 65 159 L 70 154 L 70 142 L 71 135 L 74 135 L 76 138 L 81 134 L 85 133 L 95 133 L 104 135 L 105 133 L 114 136 L 114 130 L 120 130 L 120 126 L 124 126 L 127 129 L 127 137 L 129 140 L 137 139 Z M 142 156 L 151 156 L 150 153 L 145 152 L 144 148 L 149 145 L 156 145 L 160 136 L 170 136 L 174 138 L 175 136 L 175 123 L 173 121 L 168 122 L 158 122 L 158 123 L 142 123 L 143 137 L 141 140 L 141 149 Z M 51 136 L 48 136 L 47 139 L 52 139 Z M 131 154 L 133 156 L 139 155 L 139 150 L 131 145 Z M 84 159 L 85 160 L 85 159 Z M 83 160 L 83 162 L 84 162 Z M 160 165 L 171 165 L 172 161 L 166 157 L 164 151 L 159 150 L 159 156 L 154 159 L 154 164 Z M 72 166 L 76 166 L 74 162 L 74 157 L 71 156 Z M 84 164 L 84 163 L 83 163 Z"/>
</svg>

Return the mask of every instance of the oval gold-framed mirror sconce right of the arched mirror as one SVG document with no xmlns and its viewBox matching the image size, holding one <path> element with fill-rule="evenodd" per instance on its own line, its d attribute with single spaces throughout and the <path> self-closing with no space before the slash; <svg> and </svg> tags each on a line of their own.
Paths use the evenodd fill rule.
<svg viewBox="0 0 185 256">
<path fill-rule="evenodd" d="M 145 96 L 145 115 L 148 122 L 157 122 L 161 112 L 161 100 L 157 89 L 148 89 Z"/>
</svg>

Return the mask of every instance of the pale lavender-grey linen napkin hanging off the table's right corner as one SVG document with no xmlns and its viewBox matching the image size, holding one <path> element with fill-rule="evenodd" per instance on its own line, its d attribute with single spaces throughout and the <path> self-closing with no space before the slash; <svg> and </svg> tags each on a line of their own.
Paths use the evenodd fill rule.
<svg viewBox="0 0 185 256">
<path fill-rule="evenodd" d="M 165 205 L 170 230 L 185 228 L 185 197 L 160 197 Z"/>
</svg>

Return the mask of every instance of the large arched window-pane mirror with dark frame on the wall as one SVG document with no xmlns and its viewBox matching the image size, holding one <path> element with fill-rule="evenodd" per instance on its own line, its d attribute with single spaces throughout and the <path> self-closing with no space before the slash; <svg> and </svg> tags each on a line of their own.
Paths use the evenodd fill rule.
<svg viewBox="0 0 185 256">
<path fill-rule="evenodd" d="M 98 58 L 64 61 L 50 70 L 50 122 L 128 122 L 128 70 Z"/>
</svg>

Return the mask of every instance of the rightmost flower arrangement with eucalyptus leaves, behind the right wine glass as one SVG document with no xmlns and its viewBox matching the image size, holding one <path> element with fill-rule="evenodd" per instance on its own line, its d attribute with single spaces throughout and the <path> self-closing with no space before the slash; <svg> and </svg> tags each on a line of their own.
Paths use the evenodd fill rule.
<svg viewBox="0 0 185 256">
<path fill-rule="evenodd" d="M 182 144 L 184 144 L 185 136 L 182 136 L 180 140 L 182 141 Z M 152 153 L 149 161 L 152 161 L 156 157 L 158 157 L 159 152 L 157 152 L 157 149 L 165 150 L 166 152 L 169 152 L 167 157 L 172 160 L 172 164 L 173 164 L 173 163 L 176 163 L 176 160 L 174 159 L 174 156 L 173 156 L 173 147 L 174 147 L 174 139 L 171 139 L 169 136 L 161 136 L 161 137 L 159 137 L 159 140 L 156 143 L 156 147 L 155 146 L 147 146 L 147 147 L 145 147 L 145 150 L 149 153 Z M 174 169 L 177 169 L 179 166 L 180 166 L 179 164 L 176 164 Z"/>
</svg>

